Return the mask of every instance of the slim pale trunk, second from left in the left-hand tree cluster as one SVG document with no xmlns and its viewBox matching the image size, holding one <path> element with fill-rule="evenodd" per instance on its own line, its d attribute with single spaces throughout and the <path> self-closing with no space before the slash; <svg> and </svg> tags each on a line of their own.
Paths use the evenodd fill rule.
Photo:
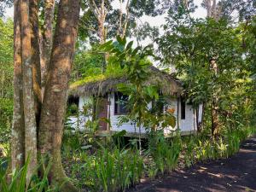
<svg viewBox="0 0 256 192">
<path fill-rule="evenodd" d="M 32 52 L 31 26 L 29 21 L 29 0 L 20 1 L 21 16 L 21 61 L 23 75 L 23 103 L 25 119 L 25 154 L 30 157 L 27 168 L 27 182 L 29 182 L 37 166 L 37 125 L 34 110 L 34 96 L 32 90 Z"/>
</svg>

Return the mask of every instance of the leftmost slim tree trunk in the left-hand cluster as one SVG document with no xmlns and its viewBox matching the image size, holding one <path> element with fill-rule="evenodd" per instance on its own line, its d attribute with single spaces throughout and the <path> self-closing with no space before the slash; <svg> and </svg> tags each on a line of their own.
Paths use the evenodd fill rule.
<svg viewBox="0 0 256 192">
<path fill-rule="evenodd" d="M 19 169 L 25 161 L 25 128 L 22 98 L 20 1 L 15 0 L 14 15 L 14 114 L 11 140 L 11 169 Z"/>
</svg>

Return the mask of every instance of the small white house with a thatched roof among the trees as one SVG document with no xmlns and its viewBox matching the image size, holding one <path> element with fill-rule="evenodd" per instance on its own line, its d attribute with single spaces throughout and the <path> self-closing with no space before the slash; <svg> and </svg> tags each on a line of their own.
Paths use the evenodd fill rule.
<svg viewBox="0 0 256 192">
<path fill-rule="evenodd" d="M 185 102 L 183 86 L 180 80 L 153 66 L 149 67 L 149 71 L 151 73 L 150 78 L 145 86 L 148 84 L 157 85 L 160 88 L 160 95 L 167 98 L 165 106 L 162 106 L 162 113 L 172 109 L 173 115 L 176 117 L 176 126 L 165 128 L 165 135 L 168 136 L 176 129 L 179 129 L 182 134 L 197 131 L 197 127 L 201 125 L 202 107 L 195 109 L 191 104 Z M 99 122 L 97 131 L 99 135 L 125 130 L 127 136 L 136 137 L 139 133 L 139 128 L 133 122 L 119 124 L 120 117 L 128 113 L 124 102 L 127 100 L 127 96 L 117 90 L 117 85 L 120 83 L 129 84 L 125 74 L 99 75 L 94 79 L 84 79 L 71 84 L 68 102 L 69 104 L 77 105 L 79 111 L 83 110 L 84 105 L 92 103 L 96 96 L 101 98 L 100 105 L 97 106 L 98 114 L 96 117 L 93 117 L 93 114 L 90 116 L 83 116 L 82 114 L 70 117 L 74 127 L 79 128 L 80 131 L 86 131 L 86 121 L 98 118 L 102 119 Z M 148 103 L 148 108 L 152 108 L 153 104 L 154 101 Z M 93 113 L 96 113 L 95 108 L 92 109 Z M 142 134 L 145 134 L 146 131 L 146 127 L 141 129 Z"/>
</svg>

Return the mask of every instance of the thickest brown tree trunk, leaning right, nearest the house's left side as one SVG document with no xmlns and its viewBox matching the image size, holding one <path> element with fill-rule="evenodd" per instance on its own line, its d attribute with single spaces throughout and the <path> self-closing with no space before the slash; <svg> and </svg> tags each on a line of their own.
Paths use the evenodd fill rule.
<svg viewBox="0 0 256 192">
<path fill-rule="evenodd" d="M 44 102 L 39 127 L 41 154 L 54 160 L 49 172 L 52 181 L 65 191 L 76 191 L 61 166 L 61 140 L 67 106 L 70 77 L 79 22 L 79 0 L 61 0 L 55 27 L 55 38 L 45 86 Z"/>
</svg>

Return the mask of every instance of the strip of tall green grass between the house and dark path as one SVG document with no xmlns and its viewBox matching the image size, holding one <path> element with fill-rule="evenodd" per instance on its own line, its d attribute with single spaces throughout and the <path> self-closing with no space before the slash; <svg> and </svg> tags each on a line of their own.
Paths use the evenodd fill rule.
<svg viewBox="0 0 256 192">
<path fill-rule="evenodd" d="M 201 134 L 188 137 L 177 135 L 169 139 L 163 137 L 161 132 L 154 132 L 143 155 L 136 147 L 122 148 L 119 143 L 110 143 L 105 147 L 98 144 L 97 147 L 73 153 L 71 174 L 77 178 L 81 189 L 124 191 L 144 176 L 154 178 L 158 174 L 172 172 L 179 160 L 191 166 L 198 161 L 228 158 L 236 154 L 242 140 L 255 132 L 255 129 L 246 128 L 227 131 L 218 138 Z"/>
</svg>

